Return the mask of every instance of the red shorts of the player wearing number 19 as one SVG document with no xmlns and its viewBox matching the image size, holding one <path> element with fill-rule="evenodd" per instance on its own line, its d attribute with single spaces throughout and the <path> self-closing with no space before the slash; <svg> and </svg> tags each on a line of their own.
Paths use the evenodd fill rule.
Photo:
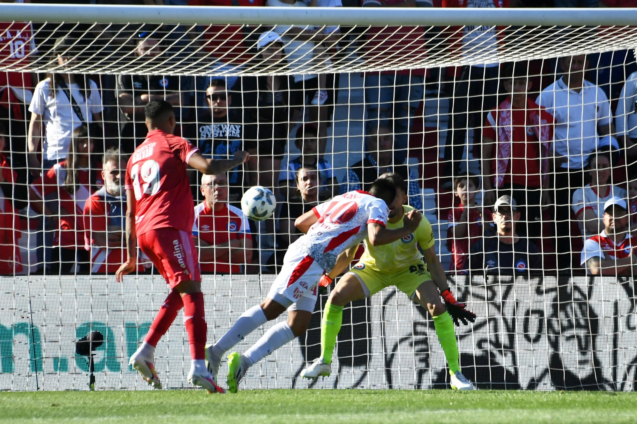
<svg viewBox="0 0 637 424">
<path fill-rule="evenodd" d="M 164 227 L 151 229 L 137 240 L 140 250 L 166 278 L 171 289 L 182 281 L 201 281 L 192 234 Z"/>
</svg>

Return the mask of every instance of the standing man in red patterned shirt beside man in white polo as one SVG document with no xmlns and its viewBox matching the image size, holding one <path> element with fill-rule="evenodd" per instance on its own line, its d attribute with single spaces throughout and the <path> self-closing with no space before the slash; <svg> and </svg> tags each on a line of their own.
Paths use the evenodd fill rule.
<svg viewBox="0 0 637 424">
<path fill-rule="evenodd" d="M 526 62 L 509 65 L 503 86 L 508 97 L 487 114 L 482 131 L 484 204 L 512 196 L 519 205 L 521 236 L 541 236 L 542 204 L 548 204 L 548 152 L 554 118 L 527 98 L 531 90 Z M 496 195 L 497 190 L 497 195 Z M 524 225 L 526 222 L 527 225 Z"/>
</svg>

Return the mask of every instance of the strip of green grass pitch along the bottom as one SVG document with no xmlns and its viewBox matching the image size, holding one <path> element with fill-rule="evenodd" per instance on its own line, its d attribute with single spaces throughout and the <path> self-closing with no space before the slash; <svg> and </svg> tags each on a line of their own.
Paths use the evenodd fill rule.
<svg viewBox="0 0 637 424">
<path fill-rule="evenodd" d="M 0 393 L 0 423 L 637 423 L 637 393 L 254 390 Z"/>
</svg>

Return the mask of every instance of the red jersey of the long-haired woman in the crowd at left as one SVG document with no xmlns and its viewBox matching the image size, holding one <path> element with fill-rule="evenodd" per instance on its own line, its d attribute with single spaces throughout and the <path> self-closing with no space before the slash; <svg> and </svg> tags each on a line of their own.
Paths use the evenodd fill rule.
<svg viewBox="0 0 637 424">
<path fill-rule="evenodd" d="M 90 197 L 90 172 L 78 172 L 75 193 L 63 188 L 66 179 L 66 160 L 53 165 L 42 177 L 31 185 L 39 198 L 45 200 L 54 214 L 59 214 L 60 247 L 78 249 L 84 247 L 84 204 Z M 55 241 L 57 244 L 57 240 Z"/>
</svg>

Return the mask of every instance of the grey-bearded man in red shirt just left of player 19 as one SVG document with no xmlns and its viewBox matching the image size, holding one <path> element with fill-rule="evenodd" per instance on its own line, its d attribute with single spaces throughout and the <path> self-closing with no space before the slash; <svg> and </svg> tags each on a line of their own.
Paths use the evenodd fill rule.
<svg viewBox="0 0 637 424">
<path fill-rule="evenodd" d="M 108 149 L 102 160 L 104 186 L 84 205 L 86 249 L 90 252 L 91 273 L 115 273 L 126 261 L 124 225 L 126 192 L 122 189 L 127 156 Z M 138 267 L 143 271 L 143 267 Z"/>
</svg>

